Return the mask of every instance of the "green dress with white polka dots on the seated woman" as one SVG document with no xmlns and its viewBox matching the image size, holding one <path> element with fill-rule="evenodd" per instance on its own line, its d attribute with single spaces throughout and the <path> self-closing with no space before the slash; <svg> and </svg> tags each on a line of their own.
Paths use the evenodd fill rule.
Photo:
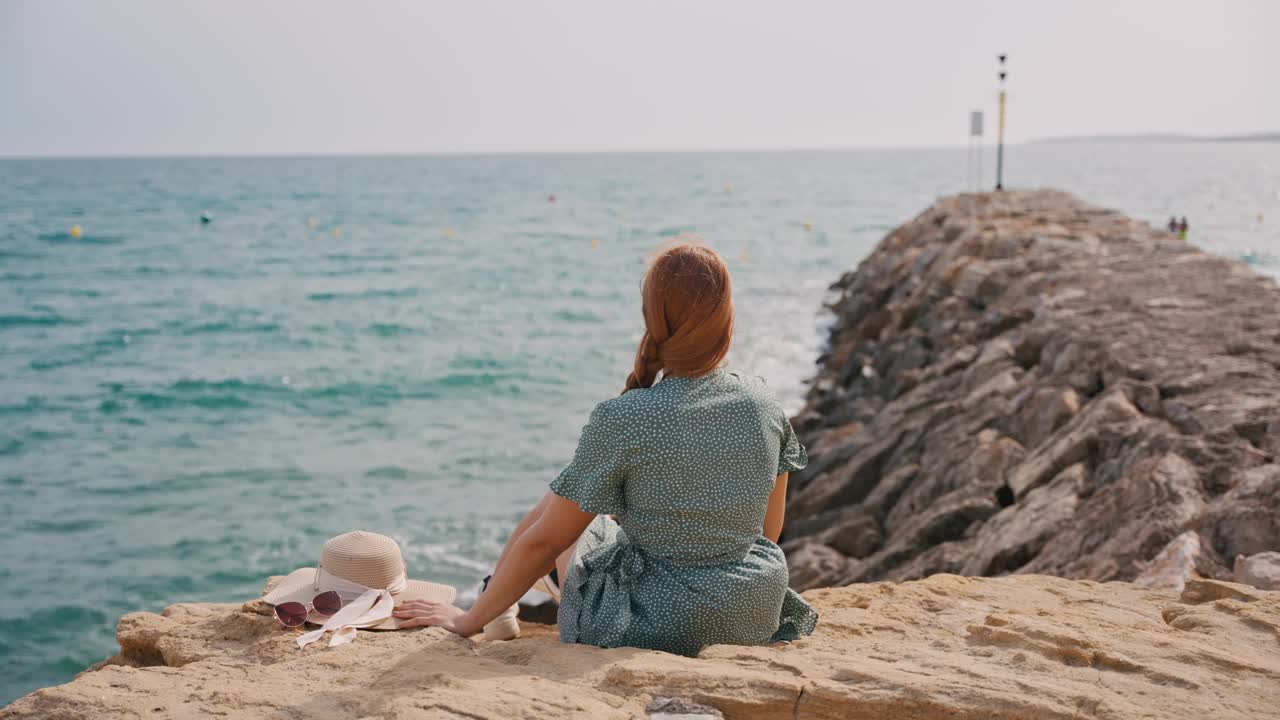
<svg viewBox="0 0 1280 720">
<path fill-rule="evenodd" d="M 762 534 L 774 478 L 806 461 L 758 378 L 666 378 L 598 405 L 552 482 L 599 515 L 562 579 L 561 639 L 692 656 L 813 633 Z"/>
</svg>

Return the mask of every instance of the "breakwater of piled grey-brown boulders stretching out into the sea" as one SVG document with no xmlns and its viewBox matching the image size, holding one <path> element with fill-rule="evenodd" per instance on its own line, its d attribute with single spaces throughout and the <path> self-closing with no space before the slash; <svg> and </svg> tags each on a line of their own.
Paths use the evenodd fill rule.
<svg viewBox="0 0 1280 720">
<path fill-rule="evenodd" d="M 1280 577 L 1271 279 L 1041 191 L 945 199 L 833 290 L 796 418 L 799 588 Z"/>
</svg>

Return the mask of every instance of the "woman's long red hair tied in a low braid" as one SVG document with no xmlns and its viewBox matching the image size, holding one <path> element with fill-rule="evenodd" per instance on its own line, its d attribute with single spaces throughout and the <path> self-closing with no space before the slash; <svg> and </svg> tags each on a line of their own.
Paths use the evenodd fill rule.
<svg viewBox="0 0 1280 720">
<path fill-rule="evenodd" d="M 659 372 L 696 378 L 718 368 L 733 340 L 733 299 L 719 254 L 678 242 L 654 258 L 643 288 L 645 332 L 622 392 L 652 386 Z"/>
</svg>

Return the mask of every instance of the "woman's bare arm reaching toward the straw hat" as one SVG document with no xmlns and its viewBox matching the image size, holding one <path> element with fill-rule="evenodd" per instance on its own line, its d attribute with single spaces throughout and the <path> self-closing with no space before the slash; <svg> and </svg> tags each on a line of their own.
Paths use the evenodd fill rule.
<svg viewBox="0 0 1280 720">
<path fill-rule="evenodd" d="M 550 502 L 520 537 L 509 546 L 497 573 L 489 580 L 471 610 L 440 623 L 440 626 L 462 637 L 471 637 L 488 623 L 524 597 L 539 578 L 556 566 L 556 557 L 573 544 L 582 530 L 595 518 L 594 512 L 584 512 L 577 503 L 549 493 Z M 397 611 L 398 616 L 401 615 Z M 408 615 L 408 614 L 406 614 Z M 435 623 L 415 623 L 412 619 L 402 626 L 431 625 Z"/>
</svg>

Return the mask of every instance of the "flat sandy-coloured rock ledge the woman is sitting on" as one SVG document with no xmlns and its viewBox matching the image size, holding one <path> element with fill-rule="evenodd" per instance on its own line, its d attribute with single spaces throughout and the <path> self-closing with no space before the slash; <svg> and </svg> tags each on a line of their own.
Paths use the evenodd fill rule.
<svg viewBox="0 0 1280 720">
<path fill-rule="evenodd" d="M 621 719 L 699 705 L 728 719 L 1261 719 L 1280 707 L 1276 592 L 934 575 L 806 597 L 822 615 L 813 637 L 699 659 L 562 644 L 545 625 L 506 643 L 424 629 L 300 651 L 297 630 L 257 602 L 175 605 L 125 616 L 119 657 L 0 719 Z"/>
</svg>

